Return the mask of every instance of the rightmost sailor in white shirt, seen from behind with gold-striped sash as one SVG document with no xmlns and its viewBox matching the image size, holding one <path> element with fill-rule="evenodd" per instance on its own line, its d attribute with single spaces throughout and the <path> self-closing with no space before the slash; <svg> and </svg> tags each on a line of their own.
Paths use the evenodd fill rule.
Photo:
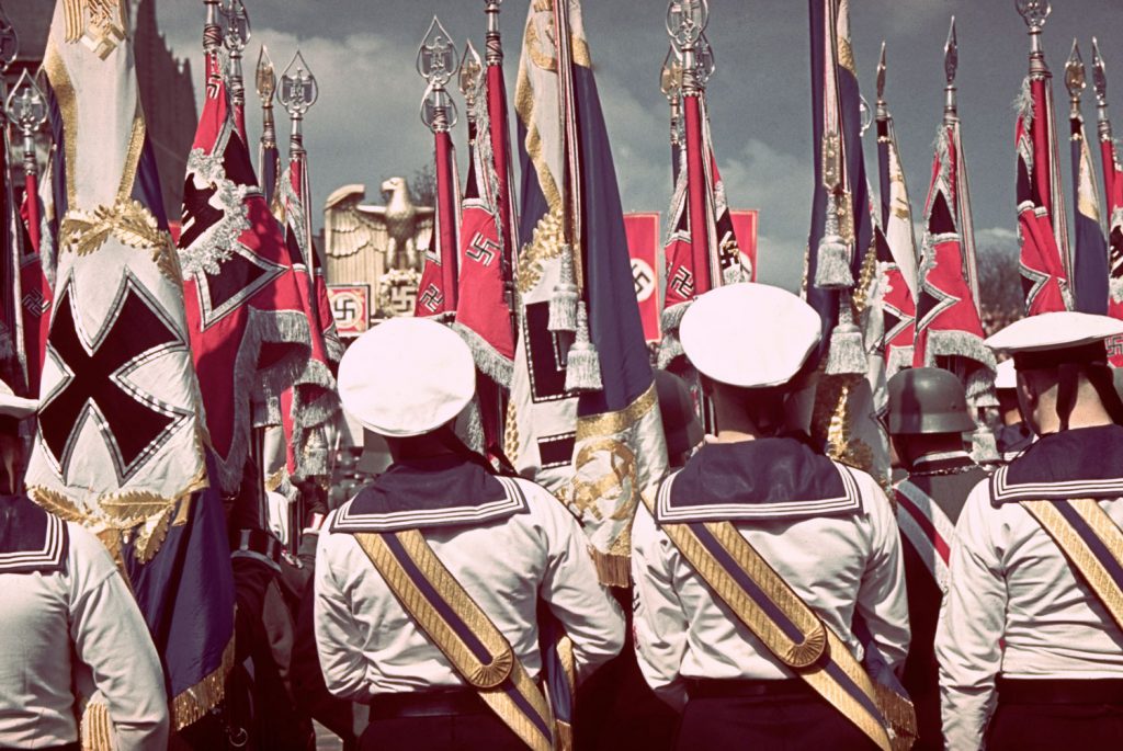
<svg viewBox="0 0 1123 751">
<path fill-rule="evenodd" d="M 956 526 L 935 641 L 948 749 L 1123 749 L 1123 404 L 1104 347 L 1119 333 L 1058 312 L 987 340 L 1013 355 L 1039 440 Z"/>
</svg>

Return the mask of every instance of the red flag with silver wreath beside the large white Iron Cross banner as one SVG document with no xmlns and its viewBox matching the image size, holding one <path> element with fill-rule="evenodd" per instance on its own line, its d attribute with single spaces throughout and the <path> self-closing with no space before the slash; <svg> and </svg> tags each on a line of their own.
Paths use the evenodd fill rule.
<svg viewBox="0 0 1123 751">
<path fill-rule="evenodd" d="M 218 479 L 241 485 L 252 400 L 276 397 L 309 356 L 309 319 L 281 229 L 231 117 L 218 27 L 204 31 L 207 95 L 188 155 L 179 239 L 191 350 Z"/>
</svg>

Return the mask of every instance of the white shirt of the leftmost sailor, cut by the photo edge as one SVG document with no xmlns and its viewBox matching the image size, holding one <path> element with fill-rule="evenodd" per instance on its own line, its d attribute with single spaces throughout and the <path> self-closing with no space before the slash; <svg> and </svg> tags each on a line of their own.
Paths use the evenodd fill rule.
<svg viewBox="0 0 1123 751">
<path fill-rule="evenodd" d="M 0 574 L 0 747 L 77 740 L 76 660 L 104 695 L 117 748 L 163 751 L 167 698 L 148 628 L 101 542 L 66 528 L 63 571 Z"/>
</svg>

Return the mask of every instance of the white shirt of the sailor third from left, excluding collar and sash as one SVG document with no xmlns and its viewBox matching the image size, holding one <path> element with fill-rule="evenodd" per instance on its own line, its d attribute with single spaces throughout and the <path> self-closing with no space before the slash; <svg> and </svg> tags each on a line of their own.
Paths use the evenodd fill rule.
<svg viewBox="0 0 1123 751">
<path fill-rule="evenodd" d="M 885 493 L 853 470 L 861 510 L 848 516 L 734 522 L 741 535 L 860 660 L 855 612 L 891 668 L 909 648 L 901 538 Z M 636 649 L 648 685 L 665 702 L 686 702 L 683 678 L 795 676 L 718 601 L 645 506 L 632 528 Z"/>
</svg>

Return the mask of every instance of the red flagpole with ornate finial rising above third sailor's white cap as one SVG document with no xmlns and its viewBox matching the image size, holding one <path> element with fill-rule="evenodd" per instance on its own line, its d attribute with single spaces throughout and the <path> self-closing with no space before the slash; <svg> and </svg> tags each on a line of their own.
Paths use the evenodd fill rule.
<svg viewBox="0 0 1123 751">
<path fill-rule="evenodd" d="M 691 222 L 691 254 L 694 258 L 694 290 L 713 286 L 712 248 L 706 226 L 705 166 L 702 153 L 702 103 L 705 93 L 699 72 L 697 44 L 709 24 L 706 0 L 672 0 L 667 7 L 667 34 L 682 55 L 682 98 L 686 137 L 686 201 Z"/>
</svg>

